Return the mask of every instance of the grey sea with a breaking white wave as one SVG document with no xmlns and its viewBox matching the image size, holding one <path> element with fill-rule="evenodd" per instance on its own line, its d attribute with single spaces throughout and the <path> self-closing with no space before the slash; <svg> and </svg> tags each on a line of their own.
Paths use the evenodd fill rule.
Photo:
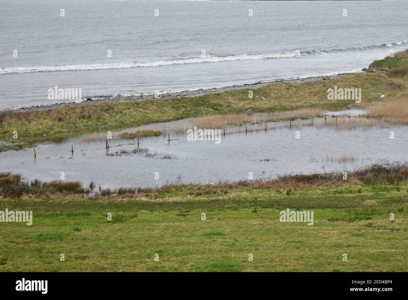
<svg viewBox="0 0 408 300">
<path fill-rule="evenodd" d="M 408 1 L 2 0 L 0 29 L 4 110 L 359 71 L 408 48 Z"/>
</svg>

